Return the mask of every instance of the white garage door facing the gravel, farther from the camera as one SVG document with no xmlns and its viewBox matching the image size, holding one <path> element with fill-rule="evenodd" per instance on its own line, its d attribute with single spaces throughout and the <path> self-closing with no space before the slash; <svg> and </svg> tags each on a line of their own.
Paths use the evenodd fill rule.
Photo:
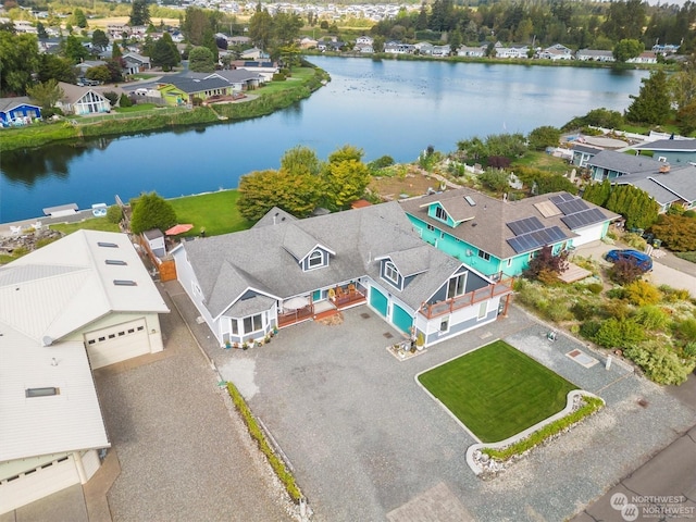
<svg viewBox="0 0 696 522">
<path fill-rule="evenodd" d="M 150 352 L 145 319 L 85 334 L 92 370 Z"/>
</svg>

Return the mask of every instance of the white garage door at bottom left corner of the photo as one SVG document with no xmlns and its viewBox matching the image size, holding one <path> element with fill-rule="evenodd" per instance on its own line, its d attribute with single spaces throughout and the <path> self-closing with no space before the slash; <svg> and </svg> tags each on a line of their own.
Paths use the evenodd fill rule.
<svg viewBox="0 0 696 522">
<path fill-rule="evenodd" d="M 0 483 L 0 513 L 26 506 L 73 484 L 79 484 L 79 475 L 72 455 L 11 476 Z"/>
</svg>

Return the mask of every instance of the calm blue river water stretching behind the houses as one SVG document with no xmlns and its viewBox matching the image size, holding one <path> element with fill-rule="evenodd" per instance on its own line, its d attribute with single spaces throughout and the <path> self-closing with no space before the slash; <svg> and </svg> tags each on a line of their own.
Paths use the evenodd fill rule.
<svg viewBox="0 0 696 522">
<path fill-rule="evenodd" d="M 270 116 L 7 152 L 0 158 L 0 222 L 41 209 L 113 203 L 142 191 L 163 197 L 233 188 L 248 172 L 276 169 L 297 145 L 320 158 L 350 144 L 365 160 L 414 160 L 432 145 L 561 126 L 605 107 L 623 111 L 645 71 L 312 57 L 332 82 Z"/>
</svg>

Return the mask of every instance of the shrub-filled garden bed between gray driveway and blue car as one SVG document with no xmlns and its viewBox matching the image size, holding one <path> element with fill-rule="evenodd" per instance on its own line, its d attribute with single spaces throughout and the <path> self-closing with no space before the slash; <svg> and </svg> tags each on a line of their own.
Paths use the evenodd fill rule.
<svg viewBox="0 0 696 522">
<path fill-rule="evenodd" d="M 584 282 L 515 282 L 515 301 L 602 348 L 621 350 L 659 384 L 682 384 L 696 366 L 696 304 L 688 291 L 637 279 L 619 286 L 596 261 L 573 259 Z"/>
</svg>

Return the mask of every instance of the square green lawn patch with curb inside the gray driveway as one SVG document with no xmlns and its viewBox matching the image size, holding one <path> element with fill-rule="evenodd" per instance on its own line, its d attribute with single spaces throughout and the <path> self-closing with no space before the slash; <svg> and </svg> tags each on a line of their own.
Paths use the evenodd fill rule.
<svg viewBox="0 0 696 522">
<path fill-rule="evenodd" d="M 484 443 L 558 413 L 577 388 L 501 340 L 434 368 L 419 382 Z"/>
</svg>

